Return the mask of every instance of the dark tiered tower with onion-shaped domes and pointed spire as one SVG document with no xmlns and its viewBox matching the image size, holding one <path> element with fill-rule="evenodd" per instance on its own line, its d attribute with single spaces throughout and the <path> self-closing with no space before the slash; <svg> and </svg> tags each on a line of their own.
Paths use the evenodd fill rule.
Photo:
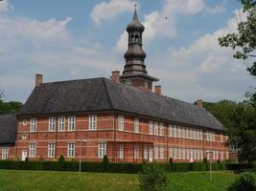
<svg viewBox="0 0 256 191">
<path fill-rule="evenodd" d="M 142 49 L 142 33 L 144 30 L 145 28 L 139 22 L 135 8 L 132 21 L 127 27 L 128 51 L 124 55 L 126 64 L 120 82 L 151 91 L 152 82 L 158 81 L 158 79 L 149 75 L 146 70 L 144 63 L 146 53 Z"/>
</svg>

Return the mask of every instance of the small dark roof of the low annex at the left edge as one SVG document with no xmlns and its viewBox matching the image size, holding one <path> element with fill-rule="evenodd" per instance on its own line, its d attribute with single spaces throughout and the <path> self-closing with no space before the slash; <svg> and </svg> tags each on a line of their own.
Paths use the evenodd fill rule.
<svg viewBox="0 0 256 191">
<path fill-rule="evenodd" d="M 0 115 L 0 144 L 15 143 L 16 128 L 15 115 Z"/>
</svg>

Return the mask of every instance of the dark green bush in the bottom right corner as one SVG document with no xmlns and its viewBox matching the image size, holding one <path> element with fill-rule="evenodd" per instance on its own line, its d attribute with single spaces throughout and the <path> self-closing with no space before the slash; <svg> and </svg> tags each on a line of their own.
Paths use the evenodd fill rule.
<svg viewBox="0 0 256 191">
<path fill-rule="evenodd" d="M 255 180 L 252 173 L 241 174 L 232 182 L 226 191 L 256 191 Z"/>
</svg>

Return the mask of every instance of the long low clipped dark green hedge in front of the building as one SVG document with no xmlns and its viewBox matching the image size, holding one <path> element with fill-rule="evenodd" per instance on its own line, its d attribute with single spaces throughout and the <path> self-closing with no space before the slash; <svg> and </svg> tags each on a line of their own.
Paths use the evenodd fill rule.
<svg viewBox="0 0 256 191">
<path fill-rule="evenodd" d="M 209 162 L 178 162 L 160 163 L 168 172 L 206 171 L 209 170 Z M 251 164 L 256 169 L 256 162 Z M 249 166 L 246 163 L 212 163 L 213 170 L 243 170 Z M 51 170 L 51 171 L 78 171 L 78 161 L 20 161 L 0 160 L 0 169 L 13 170 Z M 82 172 L 107 172 L 137 174 L 142 169 L 142 163 L 103 163 L 81 162 Z"/>
</svg>

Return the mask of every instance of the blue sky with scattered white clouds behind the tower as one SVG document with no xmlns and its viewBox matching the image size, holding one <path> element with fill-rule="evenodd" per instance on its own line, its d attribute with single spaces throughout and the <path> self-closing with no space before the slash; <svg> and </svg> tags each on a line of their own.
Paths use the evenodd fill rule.
<svg viewBox="0 0 256 191">
<path fill-rule="evenodd" d="M 218 37 L 245 19 L 238 0 L 0 1 L 0 89 L 25 102 L 44 82 L 123 71 L 134 4 L 145 26 L 148 74 L 162 94 L 184 101 L 244 100 L 246 65 Z"/>
</svg>

